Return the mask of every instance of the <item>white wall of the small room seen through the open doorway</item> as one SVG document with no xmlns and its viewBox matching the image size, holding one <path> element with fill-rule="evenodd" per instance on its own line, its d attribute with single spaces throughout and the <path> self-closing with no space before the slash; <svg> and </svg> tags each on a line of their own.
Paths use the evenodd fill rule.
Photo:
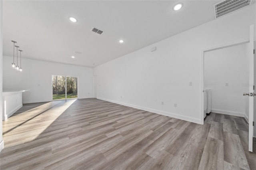
<svg viewBox="0 0 256 170">
<path fill-rule="evenodd" d="M 249 44 L 204 53 L 204 87 L 212 90 L 212 112 L 248 120 Z M 228 86 L 225 85 L 228 83 Z"/>
</svg>

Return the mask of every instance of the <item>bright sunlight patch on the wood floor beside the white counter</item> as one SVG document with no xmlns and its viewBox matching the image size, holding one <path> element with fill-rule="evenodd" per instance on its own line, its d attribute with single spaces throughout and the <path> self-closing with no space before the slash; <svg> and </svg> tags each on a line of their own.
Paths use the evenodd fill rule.
<svg viewBox="0 0 256 170">
<path fill-rule="evenodd" d="M 5 148 L 35 140 L 76 100 L 52 101 L 10 117 L 3 122 Z"/>
</svg>

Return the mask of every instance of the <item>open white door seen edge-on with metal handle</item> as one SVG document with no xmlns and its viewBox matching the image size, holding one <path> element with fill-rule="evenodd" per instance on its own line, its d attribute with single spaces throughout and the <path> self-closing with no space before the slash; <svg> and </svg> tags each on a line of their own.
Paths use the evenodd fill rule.
<svg viewBox="0 0 256 170">
<path fill-rule="evenodd" d="M 249 151 L 252 152 L 253 115 L 254 115 L 254 25 L 250 26 L 250 54 L 249 54 Z M 255 94 L 256 95 L 256 94 Z"/>
</svg>

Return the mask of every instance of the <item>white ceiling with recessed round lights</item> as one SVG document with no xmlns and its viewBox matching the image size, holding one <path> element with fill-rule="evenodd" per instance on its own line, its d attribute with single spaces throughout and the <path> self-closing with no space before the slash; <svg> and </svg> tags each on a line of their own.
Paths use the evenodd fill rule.
<svg viewBox="0 0 256 170">
<path fill-rule="evenodd" d="M 214 20 L 218 1 L 4 0 L 3 55 L 13 56 L 15 40 L 24 58 L 95 67 Z M 178 2 L 183 8 L 172 10 Z"/>
</svg>

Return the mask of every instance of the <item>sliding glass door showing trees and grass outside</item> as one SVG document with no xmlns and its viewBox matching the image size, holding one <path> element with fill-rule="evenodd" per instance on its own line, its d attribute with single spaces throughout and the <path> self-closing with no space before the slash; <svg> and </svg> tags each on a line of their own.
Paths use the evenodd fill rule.
<svg viewBox="0 0 256 170">
<path fill-rule="evenodd" d="M 77 98 L 77 77 L 53 75 L 52 76 L 52 99 Z"/>
</svg>

